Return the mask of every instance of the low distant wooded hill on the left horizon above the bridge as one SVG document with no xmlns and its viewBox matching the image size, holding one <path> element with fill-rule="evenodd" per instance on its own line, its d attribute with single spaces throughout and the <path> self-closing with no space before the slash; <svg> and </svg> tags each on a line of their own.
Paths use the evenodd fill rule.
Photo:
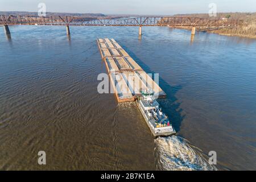
<svg viewBox="0 0 256 182">
<path fill-rule="evenodd" d="M 4 15 L 31 15 L 37 16 L 38 12 L 28 12 L 28 11 L 0 11 L 0 14 Z M 105 17 L 106 15 L 101 13 L 54 13 L 47 12 L 47 16 L 84 16 L 84 17 Z"/>
</svg>

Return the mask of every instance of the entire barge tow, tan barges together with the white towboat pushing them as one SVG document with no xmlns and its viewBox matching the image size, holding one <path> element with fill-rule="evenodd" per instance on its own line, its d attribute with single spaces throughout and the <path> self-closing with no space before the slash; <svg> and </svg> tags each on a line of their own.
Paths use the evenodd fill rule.
<svg viewBox="0 0 256 182">
<path fill-rule="evenodd" d="M 154 137 L 175 134 L 170 119 L 156 101 L 166 98 L 166 93 L 114 39 L 97 39 L 97 44 L 117 101 L 136 101 Z"/>
</svg>

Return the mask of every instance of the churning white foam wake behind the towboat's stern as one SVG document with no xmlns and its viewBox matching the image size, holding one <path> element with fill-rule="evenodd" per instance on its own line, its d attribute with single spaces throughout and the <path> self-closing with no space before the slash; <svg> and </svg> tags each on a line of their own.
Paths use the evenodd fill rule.
<svg viewBox="0 0 256 182">
<path fill-rule="evenodd" d="M 217 170 L 181 137 L 159 137 L 155 143 L 160 170 Z"/>
</svg>

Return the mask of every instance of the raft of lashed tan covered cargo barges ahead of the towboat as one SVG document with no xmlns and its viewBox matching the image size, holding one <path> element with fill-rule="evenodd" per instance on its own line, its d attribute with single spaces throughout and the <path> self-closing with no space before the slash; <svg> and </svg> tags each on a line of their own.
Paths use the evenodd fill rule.
<svg viewBox="0 0 256 182">
<path fill-rule="evenodd" d="M 135 96 L 139 96 L 145 89 L 154 90 L 159 98 L 166 97 L 159 85 L 114 39 L 97 39 L 97 43 L 118 102 L 134 101 Z"/>
</svg>

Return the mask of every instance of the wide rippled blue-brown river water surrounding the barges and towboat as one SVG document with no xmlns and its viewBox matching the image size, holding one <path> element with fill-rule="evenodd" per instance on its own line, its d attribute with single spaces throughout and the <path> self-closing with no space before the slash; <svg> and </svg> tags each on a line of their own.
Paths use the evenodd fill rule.
<svg viewBox="0 0 256 182">
<path fill-rule="evenodd" d="M 256 40 L 169 27 L 10 26 L 0 31 L 0 169 L 256 169 Z M 177 135 L 155 139 L 134 103 L 99 94 L 97 38 L 147 73 Z M 38 164 L 38 151 L 47 164 Z M 208 164 L 216 151 L 217 166 Z"/>
</svg>

